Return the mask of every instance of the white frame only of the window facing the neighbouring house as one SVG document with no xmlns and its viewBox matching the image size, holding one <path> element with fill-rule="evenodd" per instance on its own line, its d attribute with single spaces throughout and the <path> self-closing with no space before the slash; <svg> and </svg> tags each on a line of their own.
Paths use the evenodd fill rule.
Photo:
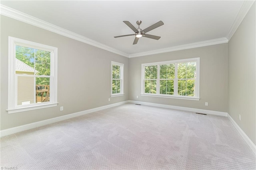
<svg viewBox="0 0 256 170">
<path fill-rule="evenodd" d="M 50 101 L 30 105 L 17 105 L 16 45 L 50 51 Z M 58 48 L 9 36 L 8 46 L 8 113 L 18 113 L 57 106 L 57 61 Z M 22 75 L 23 76 L 23 75 Z M 34 76 L 34 75 L 24 75 Z"/>
</svg>

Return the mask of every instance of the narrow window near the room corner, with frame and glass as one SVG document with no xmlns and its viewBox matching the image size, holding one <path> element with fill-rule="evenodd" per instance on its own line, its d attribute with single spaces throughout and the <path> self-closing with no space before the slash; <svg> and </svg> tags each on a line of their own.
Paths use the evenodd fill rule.
<svg viewBox="0 0 256 170">
<path fill-rule="evenodd" d="M 111 61 L 111 96 L 124 95 L 124 64 Z"/>
</svg>

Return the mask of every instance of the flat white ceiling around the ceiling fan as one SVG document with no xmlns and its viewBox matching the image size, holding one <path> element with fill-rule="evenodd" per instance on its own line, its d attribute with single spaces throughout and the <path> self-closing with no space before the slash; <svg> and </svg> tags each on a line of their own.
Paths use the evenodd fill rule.
<svg viewBox="0 0 256 170">
<path fill-rule="evenodd" d="M 4 1 L 1 4 L 128 55 L 227 37 L 242 1 Z M 135 36 L 122 21 L 142 20 L 147 28 L 162 20 L 163 26 L 148 32 L 160 40 Z"/>
</svg>

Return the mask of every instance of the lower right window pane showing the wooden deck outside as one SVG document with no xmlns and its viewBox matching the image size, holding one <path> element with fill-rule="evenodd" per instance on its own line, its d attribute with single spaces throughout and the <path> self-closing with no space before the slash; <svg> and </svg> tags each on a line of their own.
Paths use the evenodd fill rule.
<svg viewBox="0 0 256 170">
<path fill-rule="evenodd" d="M 36 77 L 36 103 L 50 101 L 50 78 Z"/>
</svg>

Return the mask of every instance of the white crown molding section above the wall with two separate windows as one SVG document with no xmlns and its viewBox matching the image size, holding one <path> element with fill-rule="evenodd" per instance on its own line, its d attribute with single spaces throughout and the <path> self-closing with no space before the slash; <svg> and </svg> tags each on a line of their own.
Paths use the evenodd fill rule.
<svg viewBox="0 0 256 170">
<path fill-rule="evenodd" d="M 23 12 L 20 12 L 18 10 L 14 10 L 14 9 L 9 8 L 7 6 L 4 6 L 2 4 L 0 4 L 0 14 L 4 15 L 4 16 L 7 16 L 7 17 L 10 17 L 10 18 L 13 18 L 15 20 L 19 20 L 21 22 L 25 22 L 27 24 L 30 24 L 30 25 L 33 25 L 33 26 L 36 26 L 36 27 L 39 27 L 39 28 L 43 28 L 43 29 L 48 30 L 50 32 L 54 32 L 56 34 L 60 34 L 62 36 L 66 36 L 68 38 L 72 38 L 74 40 L 78 40 L 80 42 L 87 43 L 89 45 L 93 45 L 95 47 L 110 51 L 112 53 L 116 53 L 116 54 L 122 55 L 124 57 L 129 57 L 129 54 L 124 53 L 124 52 L 122 52 L 118 49 L 114 49 L 114 48 L 112 48 L 108 45 L 96 42 L 94 40 L 91 40 L 89 38 L 86 38 L 84 36 L 76 34 L 74 32 L 65 30 L 63 28 L 60 28 L 58 26 L 55 26 L 53 24 L 50 24 L 48 22 L 45 22 L 43 20 L 40 20 L 38 18 L 35 18 L 35 17 L 30 16 L 28 14 L 25 14 Z"/>
</svg>

